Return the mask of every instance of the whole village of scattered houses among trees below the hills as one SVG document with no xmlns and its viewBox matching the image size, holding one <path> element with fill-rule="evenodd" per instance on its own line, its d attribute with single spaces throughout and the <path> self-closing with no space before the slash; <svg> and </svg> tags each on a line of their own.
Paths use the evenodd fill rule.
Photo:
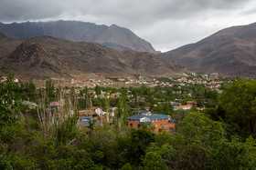
<svg viewBox="0 0 256 170">
<path fill-rule="evenodd" d="M 81 85 L 80 82 L 72 80 L 71 84 L 75 85 L 75 88 L 64 90 L 66 95 L 73 93 L 77 103 L 81 105 L 78 111 L 79 123 L 85 127 L 113 125 L 114 122 L 120 121 L 115 115 L 121 109 L 118 108 L 118 102 L 123 100 L 129 107 L 127 116 L 122 118 L 123 122 L 132 128 L 150 126 L 155 133 L 174 132 L 176 120 L 172 115 L 176 112 L 181 110 L 189 112 L 191 109 L 203 110 L 208 106 L 214 106 L 216 95 L 221 94 L 224 86 L 231 83 L 229 78 L 216 73 L 191 73 L 184 74 L 180 78 L 144 76 L 139 76 L 137 79 L 103 78 L 103 80 L 88 80 L 87 83 L 93 87 L 78 86 Z M 3 77 L 2 82 L 5 81 L 6 77 Z M 18 82 L 18 79 L 15 81 Z M 115 84 L 132 86 L 110 87 Z M 141 87 L 133 87 L 133 85 Z M 138 88 L 140 90 L 137 90 Z M 87 104 L 82 106 L 81 103 Z M 38 106 L 36 101 L 23 100 L 22 104 L 27 105 L 29 109 L 35 109 Z M 47 109 L 52 113 L 58 113 L 63 111 L 65 105 L 65 100 L 59 99 L 51 101 Z M 74 114 L 74 111 L 71 110 L 69 113 Z"/>
</svg>

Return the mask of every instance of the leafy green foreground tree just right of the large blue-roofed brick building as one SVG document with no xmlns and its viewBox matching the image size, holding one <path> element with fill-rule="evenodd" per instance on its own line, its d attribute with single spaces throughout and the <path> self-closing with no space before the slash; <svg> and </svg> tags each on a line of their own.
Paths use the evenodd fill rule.
<svg viewBox="0 0 256 170">
<path fill-rule="evenodd" d="M 211 161 L 210 149 L 224 138 L 221 123 L 212 121 L 202 113 L 191 112 L 177 125 L 180 134 L 175 135 L 172 141 L 176 149 L 173 166 L 178 169 L 208 166 Z"/>
</svg>

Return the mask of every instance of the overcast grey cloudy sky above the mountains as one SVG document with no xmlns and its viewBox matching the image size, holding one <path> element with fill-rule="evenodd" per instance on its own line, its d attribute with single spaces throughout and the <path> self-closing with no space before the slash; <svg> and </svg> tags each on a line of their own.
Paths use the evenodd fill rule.
<svg viewBox="0 0 256 170">
<path fill-rule="evenodd" d="M 77 20 L 126 27 L 162 52 L 256 22 L 256 0 L 0 0 L 0 22 Z"/>
</svg>

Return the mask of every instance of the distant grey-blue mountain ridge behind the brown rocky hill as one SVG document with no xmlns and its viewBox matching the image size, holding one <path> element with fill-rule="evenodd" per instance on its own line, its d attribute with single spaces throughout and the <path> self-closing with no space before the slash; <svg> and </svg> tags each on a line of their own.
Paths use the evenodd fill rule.
<svg viewBox="0 0 256 170">
<path fill-rule="evenodd" d="M 118 25 L 95 25 L 78 21 L 0 23 L 0 31 L 15 38 L 48 35 L 74 42 L 92 42 L 119 51 L 156 53 L 153 46 L 129 29 Z"/>
</svg>

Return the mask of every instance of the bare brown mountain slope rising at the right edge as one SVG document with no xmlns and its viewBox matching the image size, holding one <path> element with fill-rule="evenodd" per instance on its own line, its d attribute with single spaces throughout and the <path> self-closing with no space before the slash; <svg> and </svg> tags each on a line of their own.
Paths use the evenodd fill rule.
<svg viewBox="0 0 256 170">
<path fill-rule="evenodd" d="M 256 77 L 256 23 L 222 29 L 159 56 L 194 72 Z"/>
</svg>

